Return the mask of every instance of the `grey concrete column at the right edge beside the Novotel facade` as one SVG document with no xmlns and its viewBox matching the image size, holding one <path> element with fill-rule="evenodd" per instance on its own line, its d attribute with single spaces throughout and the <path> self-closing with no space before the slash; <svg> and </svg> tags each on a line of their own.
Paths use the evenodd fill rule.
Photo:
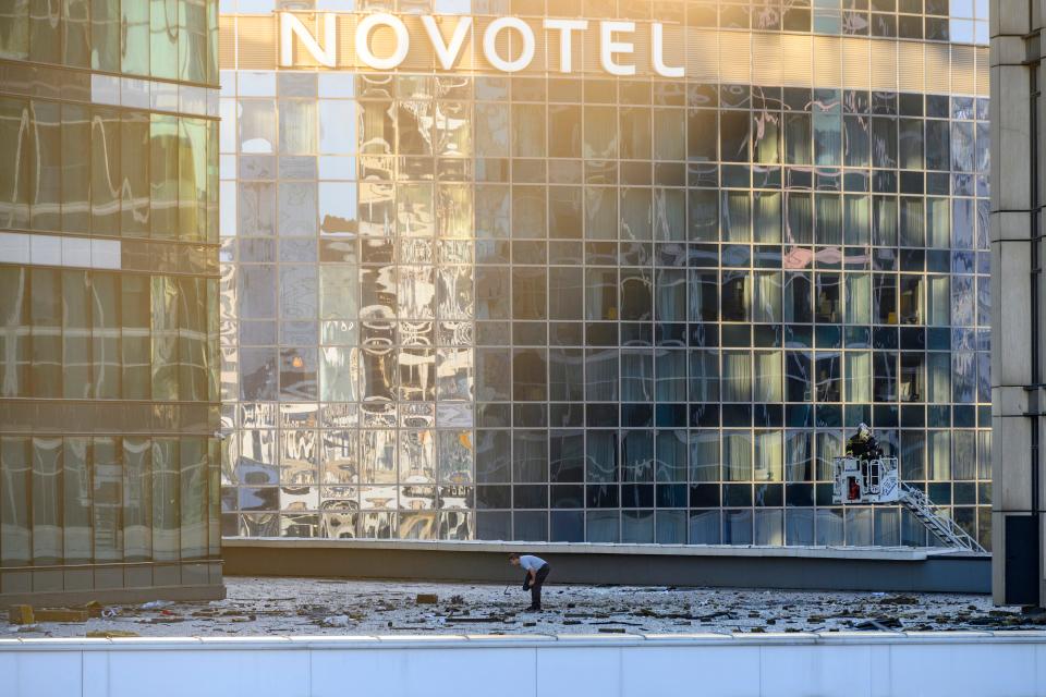
<svg viewBox="0 0 1046 697">
<path fill-rule="evenodd" d="M 1046 604 L 1039 528 L 1043 461 L 1034 437 L 1046 418 L 1042 356 L 1036 337 L 1046 326 L 1044 288 L 1033 272 L 1041 264 L 1035 209 L 1046 201 L 1042 167 L 1046 109 L 1033 103 L 1034 68 L 1042 63 L 1038 4 L 1042 0 L 993 0 L 992 34 L 992 462 L 993 591 L 998 603 Z M 1039 76 L 1039 84 L 1042 76 Z M 1036 115 L 1037 109 L 1037 115 Z M 1034 123 L 1033 123 L 1034 121 Z M 1036 147 L 1037 146 L 1037 147 Z M 1039 255 L 1037 257 L 1042 259 Z M 1037 295 L 1037 298 L 1033 298 Z M 1035 363 L 1038 365 L 1036 366 Z M 1038 368 L 1038 370 L 1036 370 Z M 1037 473 L 1035 470 L 1038 470 Z M 1035 482 L 1041 489 L 1033 492 Z"/>
</svg>

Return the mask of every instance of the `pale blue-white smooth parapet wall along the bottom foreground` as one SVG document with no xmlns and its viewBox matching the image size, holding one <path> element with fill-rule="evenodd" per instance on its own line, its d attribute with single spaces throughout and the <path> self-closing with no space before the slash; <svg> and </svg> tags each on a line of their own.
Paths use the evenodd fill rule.
<svg viewBox="0 0 1046 697">
<path fill-rule="evenodd" d="M 0 639 L 7 697 L 1031 697 L 1046 633 Z"/>
</svg>

